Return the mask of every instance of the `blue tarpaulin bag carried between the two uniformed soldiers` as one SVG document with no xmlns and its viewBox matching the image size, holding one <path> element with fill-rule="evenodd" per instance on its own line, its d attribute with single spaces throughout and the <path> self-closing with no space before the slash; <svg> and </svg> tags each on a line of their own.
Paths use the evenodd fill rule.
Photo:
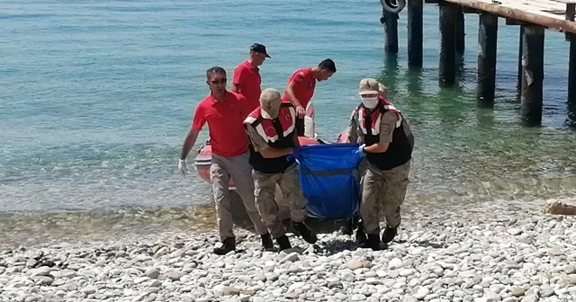
<svg viewBox="0 0 576 302">
<path fill-rule="evenodd" d="M 360 205 L 358 144 L 307 145 L 295 154 L 306 210 L 311 218 L 344 219 Z"/>
</svg>

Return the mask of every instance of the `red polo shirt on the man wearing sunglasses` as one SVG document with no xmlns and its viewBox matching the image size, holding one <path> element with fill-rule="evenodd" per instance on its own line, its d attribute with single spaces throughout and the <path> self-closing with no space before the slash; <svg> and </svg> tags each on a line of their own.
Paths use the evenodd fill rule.
<svg viewBox="0 0 576 302">
<path fill-rule="evenodd" d="M 213 154 L 242 155 L 248 150 L 243 122 L 249 112 L 246 98 L 238 93 L 227 92 L 223 102 L 217 102 L 209 94 L 196 106 L 192 129 L 200 131 L 208 123 Z"/>
</svg>

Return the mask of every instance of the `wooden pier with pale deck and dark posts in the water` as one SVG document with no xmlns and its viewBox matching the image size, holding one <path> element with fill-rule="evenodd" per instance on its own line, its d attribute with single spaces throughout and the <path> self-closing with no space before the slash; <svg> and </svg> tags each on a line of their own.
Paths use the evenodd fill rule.
<svg viewBox="0 0 576 302">
<path fill-rule="evenodd" d="M 392 0 L 401 4 L 404 0 Z M 499 18 L 518 25 L 518 89 L 520 115 L 527 124 L 542 121 L 545 30 L 565 33 L 570 41 L 568 102 L 576 106 L 576 0 L 407 0 L 408 65 L 421 68 L 423 58 L 423 5 L 438 4 L 440 49 L 438 84 L 451 87 L 456 81 L 458 57 L 464 53 L 464 14 L 480 14 L 478 26 L 478 76 L 476 98 L 480 106 L 491 107 L 496 88 L 496 55 Z M 381 0 L 385 49 L 398 53 L 398 8 Z M 393 12 L 393 13 L 391 13 Z M 567 54 L 568 55 L 568 54 Z M 562 54 L 558 54 L 562 56 Z"/>
</svg>

